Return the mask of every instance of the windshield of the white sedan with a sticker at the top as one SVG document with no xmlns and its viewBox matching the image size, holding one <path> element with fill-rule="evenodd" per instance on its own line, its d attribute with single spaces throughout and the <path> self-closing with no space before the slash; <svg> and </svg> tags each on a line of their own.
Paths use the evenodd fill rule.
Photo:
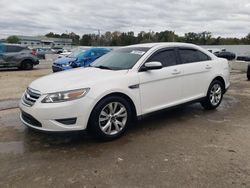
<svg viewBox="0 0 250 188">
<path fill-rule="evenodd" d="M 139 47 L 120 48 L 100 57 L 91 66 L 110 70 L 131 69 L 148 50 Z"/>
</svg>

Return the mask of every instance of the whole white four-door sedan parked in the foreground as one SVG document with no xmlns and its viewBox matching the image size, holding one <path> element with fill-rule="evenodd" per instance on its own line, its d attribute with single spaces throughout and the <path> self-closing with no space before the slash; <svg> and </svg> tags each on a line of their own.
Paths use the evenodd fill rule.
<svg viewBox="0 0 250 188">
<path fill-rule="evenodd" d="M 32 82 L 20 102 L 22 122 L 43 131 L 91 130 L 121 136 L 135 117 L 199 101 L 215 109 L 229 87 L 229 66 L 192 44 L 122 47 L 77 68 Z"/>
</svg>

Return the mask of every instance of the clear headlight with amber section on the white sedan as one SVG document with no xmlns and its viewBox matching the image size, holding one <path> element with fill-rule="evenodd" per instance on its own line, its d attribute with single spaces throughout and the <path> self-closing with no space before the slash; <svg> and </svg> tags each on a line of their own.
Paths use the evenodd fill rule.
<svg viewBox="0 0 250 188">
<path fill-rule="evenodd" d="M 58 103 L 79 99 L 84 97 L 88 91 L 89 88 L 51 93 L 42 100 L 42 103 Z"/>
</svg>

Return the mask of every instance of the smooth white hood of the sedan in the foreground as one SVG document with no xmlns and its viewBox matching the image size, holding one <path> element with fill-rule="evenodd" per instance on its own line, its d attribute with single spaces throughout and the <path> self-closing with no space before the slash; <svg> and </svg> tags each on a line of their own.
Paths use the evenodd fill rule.
<svg viewBox="0 0 250 188">
<path fill-rule="evenodd" d="M 106 70 L 99 68 L 76 68 L 68 71 L 53 73 L 33 81 L 29 87 L 42 94 L 58 91 L 89 88 L 98 83 L 105 83 L 124 76 L 127 70 Z"/>
</svg>

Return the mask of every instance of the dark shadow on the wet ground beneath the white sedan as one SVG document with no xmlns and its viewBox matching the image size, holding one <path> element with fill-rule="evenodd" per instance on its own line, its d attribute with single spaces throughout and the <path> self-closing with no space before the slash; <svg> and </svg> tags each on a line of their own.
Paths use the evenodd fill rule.
<svg viewBox="0 0 250 188">
<path fill-rule="evenodd" d="M 122 138 L 134 133 L 140 134 L 140 132 L 142 132 L 143 134 L 143 130 L 145 129 L 161 129 L 166 126 L 168 122 L 180 121 L 180 118 L 182 117 L 188 118 L 197 113 L 203 113 L 203 110 L 201 109 L 199 104 L 181 106 L 159 111 L 144 117 L 142 120 L 134 122 Z M 82 143 L 94 145 L 103 143 L 103 141 L 97 140 L 93 136 L 91 136 L 91 134 L 89 134 L 87 131 L 51 133 L 26 128 L 25 139 L 27 140 L 27 144 L 33 143 L 32 140 L 36 140 L 39 143 L 45 144 L 50 147 L 65 147 L 65 145 L 78 145 Z"/>
</svg>

